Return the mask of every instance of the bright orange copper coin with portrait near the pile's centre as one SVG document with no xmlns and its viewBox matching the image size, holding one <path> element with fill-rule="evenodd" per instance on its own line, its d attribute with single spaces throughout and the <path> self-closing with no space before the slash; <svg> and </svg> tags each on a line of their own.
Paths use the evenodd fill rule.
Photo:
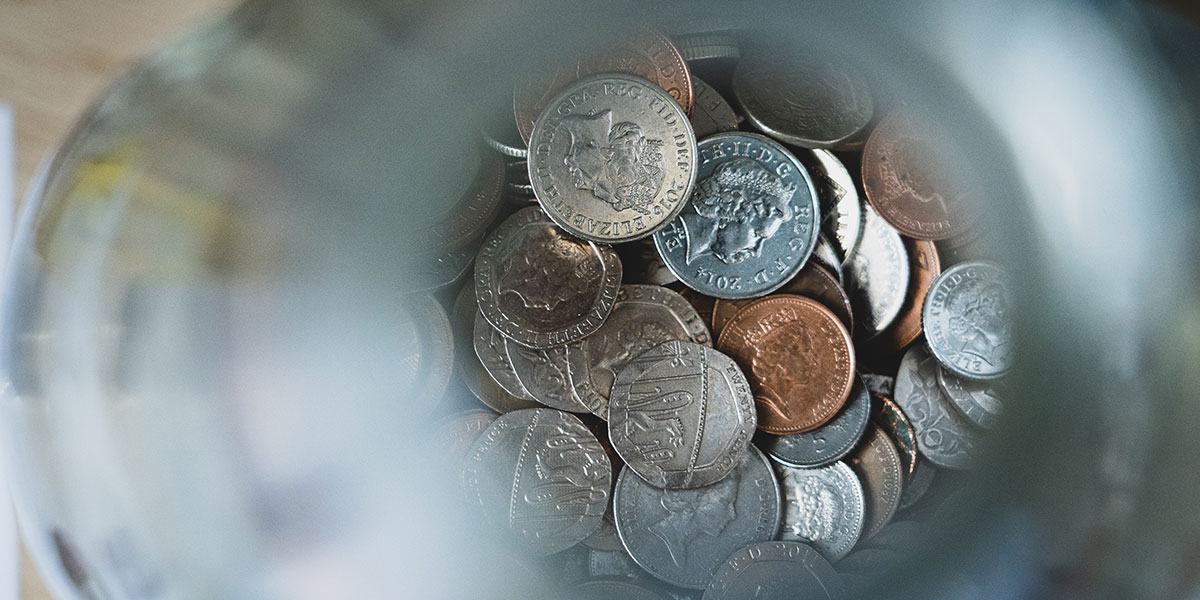
<svg viewBox="0 0 1200 600">
<path fill-rule="evenodd" d="M 746 371 L 758 428 L 786 434 L 833 419 L 854 384 L 854 348 L 846 326 L 809 298 L 767 296 L 738 311 L 718 349 Z"/>
</svg>

